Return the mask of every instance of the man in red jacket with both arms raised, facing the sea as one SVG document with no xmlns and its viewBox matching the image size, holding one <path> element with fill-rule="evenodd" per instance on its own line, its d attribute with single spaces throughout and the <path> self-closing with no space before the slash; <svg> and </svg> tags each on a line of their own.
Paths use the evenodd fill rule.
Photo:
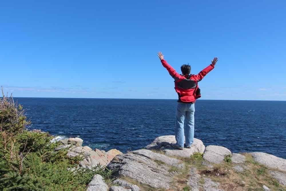
<svg viewBox="0 0 286 191">
<path fill-rule="evenodd" d="M 158 57 L 161 60 L 162 65 L 168 70 L 169 74 L 174 78 L 175 90 L 178 94 L 178 105 L 176 110 L 176 123 L 175 123 L 175 138 L 176 143 L 172 144 L 172 147 L 182 150 L 184 146 L 190 148 L 194 141 L 194 112 L 195 101 L 200 98 L 200 88 L 198 82 L 210 72 L 217 63 L 217 57 L 215 57 L 211 64 L 204 68 L 200 73 L 193 75 L 190 74 L 191 66 L 182 65 L 182 74 L 178 74 L 172 66 L 170 66 L 164 55 L 158 52 Z M 184 121 L 186 120 L 186 136 L 184 136 Z M 186 143 L 184 144 L 184 140 Z"/>
</svg>

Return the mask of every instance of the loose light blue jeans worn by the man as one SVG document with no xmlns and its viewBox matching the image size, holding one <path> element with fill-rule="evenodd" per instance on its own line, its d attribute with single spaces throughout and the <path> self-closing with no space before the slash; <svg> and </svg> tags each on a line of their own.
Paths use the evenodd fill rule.
<svg viewBox="0 0 286 191">
<path fill-rule="evenodd" d="M 178 103 L 176 111 L 175 137 L 177 145 L 184 147 L 184 121 L 186 120 L 186 146 L 194 142 L 194 103 Z"/>
</svg>

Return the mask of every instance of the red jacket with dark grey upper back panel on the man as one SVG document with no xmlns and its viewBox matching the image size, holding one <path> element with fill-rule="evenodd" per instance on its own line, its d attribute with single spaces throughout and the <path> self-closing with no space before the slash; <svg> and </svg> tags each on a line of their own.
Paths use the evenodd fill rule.
<svg viewBox="0 0 286 191">
<path fill-rule="evenodd" d="M 198 88 L 198 82 L 204 78 L 204 76 L 215 68 L 213 64 L 204 68 L 197 75 L 181 75 L 170 66 L 166 60 L 161 60 L 162 65 L 168 70 L 169 74 L 174 78 L 175 90 L 179 96 L 179 102 L 194 103 L 196 99 L 200 98 L 200 88 Z"/>
</svg>

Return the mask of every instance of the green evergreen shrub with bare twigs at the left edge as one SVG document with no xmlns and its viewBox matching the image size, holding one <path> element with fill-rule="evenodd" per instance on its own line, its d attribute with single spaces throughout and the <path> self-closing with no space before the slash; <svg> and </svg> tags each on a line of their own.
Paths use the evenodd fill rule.
<svg viewBox="0 0 286 191">
<path fill-rule="evenodd" d="M 3 92 L 3 90 L 2 90 Z M 94 174 L 111 184 L 112 171 L 97 166 L 79 168 L 84 156 L 67 157 L 67 149 L 47 133 L 27 130 L 23 107 L 13 97 L 0 99 L 0 190 L 86 190 Z M 73 170 L 72 170 L 73 169 Z"/>
</svg>

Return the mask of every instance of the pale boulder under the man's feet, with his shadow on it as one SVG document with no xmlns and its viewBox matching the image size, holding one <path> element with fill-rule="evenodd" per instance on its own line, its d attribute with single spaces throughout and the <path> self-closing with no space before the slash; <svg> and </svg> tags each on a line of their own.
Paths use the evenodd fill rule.
<svg viewBox="0 0 286 191">
<path fill-rule="evenodd" d="M 157 137 L 152 143 L 147 145 L 145 149 L 160 150 L 168 156 L 190 157 L 193 153 L 204 153 L 205 146 L 200 139 L 194 138 L 191 148 L 184 148 L 183 150 L 174 149 L 171 144 L 176 143 L 174 135 L 166 135 Z"/>
</svg>

